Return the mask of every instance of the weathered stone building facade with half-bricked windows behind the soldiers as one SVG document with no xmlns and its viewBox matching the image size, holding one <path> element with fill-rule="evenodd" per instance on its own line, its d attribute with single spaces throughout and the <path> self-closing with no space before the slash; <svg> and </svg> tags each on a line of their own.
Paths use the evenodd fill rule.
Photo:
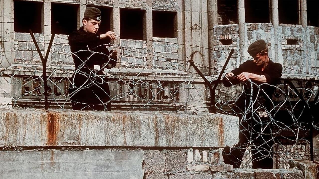
<svg viewBox="0 0 319 179">
<path fill-rule="evenodd" d="M 232 48 L 235 51 L 227 65 L 228 70 L 249 60 L 247 48 L 256 39 L 265 39 L 268 42 L 270 58 L 284 66 L 284 78 L 317 79 L 319 73 L 318 2 L 315 0 L 295 0 L 289 3 L 285 0 L 262 0 L 257 4 L 253 0 L 3 0 L 0 24 L 1 65 L 10 69 L 6 73 L 9 76 L 14 74 L 17 77 L 14 80 L 17 81 L 30 80 L 30 70 L 15 69 L 41 65 L 29 34 L 29 29 L 32 29 L 43 55 L 46 54 L 51 34 L 56 34 L 47 66 L 51 68 L 51 72 L 56 69 L 51 74 L 52 77 L 70 76 L 70 71 L 66 71 L 73 69 L 73 60 L 67 34 L 82 25 L 81 20 L 87 6 L 102 10 L 101 31 L 112 30 L 118 36 L 114 47 L 121 53 L 119 64 L 110 73 L 119 78 L 135 79 L 134 76 L 138 74 L 139 79 L 150 80 L 157 75 L 161 76 L 161 86 L 168 88 L 188 81 L 186 76 L 195 75 L 192 77 L 192 84 L 202 88 L 201 78 L 196 77 L 188 60 L 194 60 L 205 75 L 215 79 Z M 2 81 L 3 85 L 6 81 L 17 84 L 11 79 Z M 39 83 L 37 80 L 31 81 Z M 51 87 L 55 93 L 49 99 L 56 100 L 56 103 L 67 100 L 64 93 L 67 85 L 62 84 L 63 80 L 55 78 L 51 81 L 58 89 Z M 310 83 L 314 86 L 316 82 Z M 127 107 L 126 104 L 134 102 L 139 104 L 137 106 L 152 109 L 154 105 L 145 105 L 149 101 L 160 101 L 158 107 L 164 108 L 167 107 L 164 104 L 177 108 L 187 104 L 200 107 L 203 105 L 202 101 L 206 100 L 202 96 L 207 96 L 199 94 L 193 97 L 194 100 L 186 100 L 184 97 L 194 92 L 189 89 L 189 92 L 178 90 L 174 95 L 161 92 L 154 97 L 150 94 L 151 90 L 134 87 L 131 90 L 132 84 L 134 80 L 112 83 L 111 93 L 117 96 L 113 100 L 115 108 L 122 109 Z M 305 86 L 305 82 L 302 85 Z M 35 90 L 36 97 L 25 95 L 34 90 L 37 84 L 26 82 L 22 85 L 22 90 L 21 85 L 7 86 L 8 89 L 1 91 L 4 104 L 13 100 L 15 104 L 27 105 L 32 100 L 43 98 L 43 95 L 39 97 L 42 89 Z M 154 89 L 152 93 L 159 92 Z M 169 99 L 165 99 L 166 97 Z M 205 105 L 203 107 L 200 109 L 205 111 Z"/>
</svg>

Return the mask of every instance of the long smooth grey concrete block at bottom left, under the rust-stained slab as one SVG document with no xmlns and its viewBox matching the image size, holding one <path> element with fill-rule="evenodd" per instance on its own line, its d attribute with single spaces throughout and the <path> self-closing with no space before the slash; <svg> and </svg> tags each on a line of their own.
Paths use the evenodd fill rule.
<svg viewBox="0 0 319 179">
<path fill-rule="evenodd" d="M 94 175 L 84 177 L 89 172 L 110 175 L 108 178 L 142 178 L 142 151 L 1 151 L 0 176 L 6 178 L 95 178 Z M 20 174 L 24 174 L 19 177 Z M 66 177 L 63 174 L 67 174 Z M 70 175 L 73 174 L 73 175 Z M 125 174 L 125 175 L 123 175 Z M 48 175 L 48 176 L 46 176 Z M 100 178 L 100 177 L 98 177 Z"/>
</svg>

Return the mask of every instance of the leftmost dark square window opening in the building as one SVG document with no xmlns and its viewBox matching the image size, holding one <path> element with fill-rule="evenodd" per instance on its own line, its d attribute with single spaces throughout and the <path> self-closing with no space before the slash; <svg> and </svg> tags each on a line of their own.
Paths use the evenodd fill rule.
<svg viewBox="0 0 319 179">
<path fill-rule="evenodd" d="M 42 2 L 14 1 L 14 31 L 41 33 Z"/>
</svg>

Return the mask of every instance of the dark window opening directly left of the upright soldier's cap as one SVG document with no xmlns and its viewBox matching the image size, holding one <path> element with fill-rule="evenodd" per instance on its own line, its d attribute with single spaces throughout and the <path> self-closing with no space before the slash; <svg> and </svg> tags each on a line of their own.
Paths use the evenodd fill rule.
<svg viewBox="0 0 319 179">
<path fill-rule="evenodd" d="M 51 33 L 69 34 L 77 29 L 78 5 L 51 4 Z"/>
</svg>

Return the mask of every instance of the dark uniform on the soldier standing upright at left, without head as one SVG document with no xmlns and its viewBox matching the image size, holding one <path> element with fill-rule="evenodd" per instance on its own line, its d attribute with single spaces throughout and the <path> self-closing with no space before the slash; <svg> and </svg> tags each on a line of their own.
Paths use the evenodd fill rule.
<svg viewBox="0 0 319 179">
<path fill-rule="evenodd" d="M 83 27 L 72 32 L 68 39 L 75 64 L 69 89 L 71 101 L 90 105 L 108 104 L 110 110 L 110 91 L 102 73 L 108 63 L 116 65 L 116 59 L 108 57 L 110 53 L 106 44 L 109 41 L 100 39 L 99 34 L 86 32 Z M 94 70 L 94 65 L 99 65 L 100 70 Z"/>
</svg>

